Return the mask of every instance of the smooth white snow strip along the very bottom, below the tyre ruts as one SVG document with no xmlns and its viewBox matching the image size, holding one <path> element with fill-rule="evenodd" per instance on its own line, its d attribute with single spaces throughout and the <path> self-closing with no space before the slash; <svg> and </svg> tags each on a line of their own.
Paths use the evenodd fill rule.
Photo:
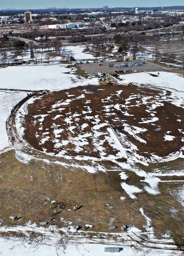
<svg viewBox="0 0 184 256">
<path fill-rule="evenodd" d="M 67 245 L 64 250 L 62 246 L 37 245 L 33 246 L 29 242 L 22 242 L 22 239 L 0 237 L 0 254 L 2 256 L 107 256 L 110 253 L 104 252 L 105 247 L 120 247 L 121 251 L 113 253 L 113 256 L 142 256 L 145 251 L 146 256 L 180 256 L 180 252 L 165 249 L 133 249 L 133 247 L 122 245 L 102 245 L 84 243 L 79 245 Z"/>
</svg>

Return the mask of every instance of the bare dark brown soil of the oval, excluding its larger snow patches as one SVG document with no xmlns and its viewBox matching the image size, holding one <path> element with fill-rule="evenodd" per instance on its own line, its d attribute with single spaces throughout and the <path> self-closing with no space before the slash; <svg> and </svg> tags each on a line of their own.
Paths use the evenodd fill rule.
<svg viewBox="0 0 184 256">
<path fill-rule="evenodd" d="M 91 94 L 84 93 L 92 92 Z M 122 90 L 120 96 L 117 96 L 116 91 Z M 95 148 L 92 139 L 93 137 L 88 137 L 86 140 L 88 141 L 88 145 L 83 145 L 81 152 L 76 152 L 76 146 L 70 142 L 67 145 L 59 146 L 56 148 L 56 140 L 58 142 L 62 142 L 63 140 L 68 140 L 69 137 L 75 137 L 76 135 L 84 135 L 86 133 L 93 133 L 93 119 L 84 119 L 85 116 L 95 116 L 98 115 L 100 119 L 98 124 L 102 124 L 107 122 L 108 126 L 103 126 L 98 129 L 99 132 L 103 132 L 108 134 L 107 127 L 111 126 L 113 130 L 118 130 L 126 135 L 128 141 L 131 141 L 135 144 L 139 150 L 139 154 L 142 156 L 150 157 L 152 154 L 158 155 L 160 157 L 167 156 L 170 153 L 176 152 L 180 150 L 182 146 L 184 146 L 184 141 L 182 142 L 182 133 L 178 129 L 182 129 L 184 127 L 184 111 L 183 108 L 177 107 L 171 102 L 167 102 L 162 100 L 163 92 L 166 92 L 167 98 L 171 100 L 169 97 L 170 94 L 168 91 L 151 89 L 148 87 L 124 87 L 122 85 L 117 86 L 88 86 L 88 87 L 78 87 L 69 90 L 59 91 L 49 93 L 44 95 L 41 100 L 36 100 L 34 104 L 30 104 L 28 107 L 28 115 L 25 118 L 25 139 L 37 150 L 43 151 L 46 149 L 47 152 L 58 154 L 61 150 L 66 151 L 66 155 L 69 156 L 93 156 L 99 158 L 100 150 Z M 77 96 L 81 94 L 85 95 L 85 98 L 76 99 Z M 72 96 L 68 96 L 72 95 Z M 138 95 L 135 98 L 130 99 L 129 97 Z M 142 104 L 141 98 L 150 97 L 148 103 Z M 108 98 L 109 97 L 109 98 Z M 139 97 L 139 98 L 138 98 Z M 128 100 L 128 104 L 126 100 Z M 66 100 L 72 100 L 67 105 L 58 106 L 53 111 L 53 104 L 56 102 L 64 102 Z M 75 100 L 74 100 L 75 99 Z M 105 100 L 104 100 L 105 99 Z M 90 102 L 89 102 L 90 101 Z M 150 102 L 149 102 L 150 101 Z M 149 108 L 152 107 L 152 104 L 155 102 L 163 103 L 163 106 L 158 106 L 154 109 L 154 114 L 158 117 L 158 121 L 154 121 L 151 123 L 143 123 L 142 119 L 149 119 L 150 113 Z M 138 103 L 138 104 L 137 104 Z M 126 109 L 124 106 L 121 107 L 121 111 L 114 108 L 115 104 L 126 104 Z M 109 106 L 110 111 L 108 112 L 110 115 L 106 115 L 105 107 Z M 91 113 L 85 113 L 83 111 L 87 111 L 88 107 L 91 109 Z M 60 108 L 64 108 L 60 111 Z M 127 111 L 128 115 L 124 115 L 124 111 Z M 47 114 L 44 117 L 43 121 L 43 129 L 39 129 L 39 115 Z M 73 115 L 79 115 L 79 118 Z M 57 119 L 54 119 L 56 115 L 62 115 Z M 34 117 L 38 116 L 38 117 Z M 65 118 L 71 118 L 72 125 L 75 125 L 73 131 L 69 129 L 70 125 L 66 123 Z M 118 119 L 115 119 L 118 118 Z M 177 121 L 180 119 L 181 121 Z M 82 124 L 87 123 L 88 127 L 81 130 Z M 54 124 L 54 125 L 53 125 Z M 130 126 L 137 126 L 140 128 L 147 129 L 146 132 L 141 132 L 139 135 L 142 139 L 144 139 L 147 143 L 141 143 L 134 139 L 133 136 L 129 135 L 124 130 L 124 124 L 128 124 Z M 60 137 L 55 137 L 54 135 L 54 126 L 57 128 L 64 129 L 61 133 Z M 164 135 L 167 131 L 170 131 L 169 135 L 175 137 L 173 141 L 165 141 Z M 41 143 L 41 139 L 45 137 L 44 133 L 49 132 L 50 139 L 45 141 L 45 143 Z M 39 135 L 39 137 L 38 137 Z M 105 135 L 101 135 L 98 140 L 104 139 L 103 147 L 106 150 L 106 154 L 117 154 L 117 150 L 114 150 L 107 140 L 105 140 Z"/>
</svg>

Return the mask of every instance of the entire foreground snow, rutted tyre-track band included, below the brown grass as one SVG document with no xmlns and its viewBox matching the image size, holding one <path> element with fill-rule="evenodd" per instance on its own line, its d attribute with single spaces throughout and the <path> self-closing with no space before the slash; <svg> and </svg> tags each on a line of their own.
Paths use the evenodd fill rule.
<svg viewBox="0 0 184 256">
<path fill-rule="evenodd" d="M 140 208 L 140 212 L 145 217 L 147 224 L 150 225 L 150 218 L 145 215 L 142 208 Z M 157 239 L 154 236 L 152 229 L 150 231 L 145 230 L 143 232 L 145 236 L 150 237 L 152 240 L 152 243 L 145 243 L 147 246 L 150 245 L 151 248 L 144 247 L 141 244 L 139 245 L 135 241 L 131 241 L 131 238 L 127 236 L 128 233 L 128 235 L 134 237 L 134 239 L 140 240 L 139 236 L 142 232 L 135 227 L 131 227 L 127 232 L 114 233 L 111 239 L 107 239 L 107 233 L 101 233 L 103 238 L 98 239 L 98 237 L 94 237 L 92 239 L 92 243 L 91 239 L 84 237 L 80 231 L 75 235 L 76 231 L 74 231 L 72 227 L 71 232 L 61 229 L 64 234 L 61 234 L 60 230 L 55 226 L 39 228 L 32 223 L 27 223 L 26 226 L 14 226 L 14 228 L 0 227 L 0 232 L 6 233 L 8 231 L 21 232 L 23 237 L 13 238 L 10 236 L 8 239 L 0 237 L 0 255 L 2 256 L 106 256 L 110 253 L 104 252 L 105 247 L 119 247 L 120 252 L 113 253 L 114 256 L 181 255 L 181 252 L 177 250 L 173 251 L 173 249 L 177 249 L 177 247 L 172 245 L 173 240 L 169 239 L 168 234 L 165 234 L 162 239 Z M 28 233 L 28 231 L 30 233 Z M 29 236 L 33 231 L 36 232 L 36 237 L 30 243 Z M 77 243 L 77 239 L 80 239 L 79 243 Z M 161 244 L 160 241 L 162 241 L 163 244 Z M 102 242 L 103 244 L 99 244 L 99 242 Z"/>
</svg>

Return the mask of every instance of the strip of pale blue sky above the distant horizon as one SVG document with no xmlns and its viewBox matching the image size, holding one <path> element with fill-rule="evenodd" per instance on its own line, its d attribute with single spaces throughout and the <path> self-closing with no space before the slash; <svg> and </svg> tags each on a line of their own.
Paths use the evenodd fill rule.
<svg viewBox="0 0 184 256">
<path fill-rule="evenodd" d="M 183 6 L 184 0 L 0 0 L 0 9 L 103 8 Z"/>
</svg>

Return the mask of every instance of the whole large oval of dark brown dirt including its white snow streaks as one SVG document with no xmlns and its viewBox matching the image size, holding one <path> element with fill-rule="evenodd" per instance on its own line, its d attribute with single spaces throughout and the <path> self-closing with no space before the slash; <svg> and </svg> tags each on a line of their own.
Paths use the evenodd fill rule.
<svg viewBox="0 0 184 256">
<path fill-rule="evenodd" d="M 184 147 L 184 110 L 169 91 L 156 87 L 48 93 L 28 105 L 23 126 L 30 145 L 59 157 L 160 161 Z"/>
</svg>

